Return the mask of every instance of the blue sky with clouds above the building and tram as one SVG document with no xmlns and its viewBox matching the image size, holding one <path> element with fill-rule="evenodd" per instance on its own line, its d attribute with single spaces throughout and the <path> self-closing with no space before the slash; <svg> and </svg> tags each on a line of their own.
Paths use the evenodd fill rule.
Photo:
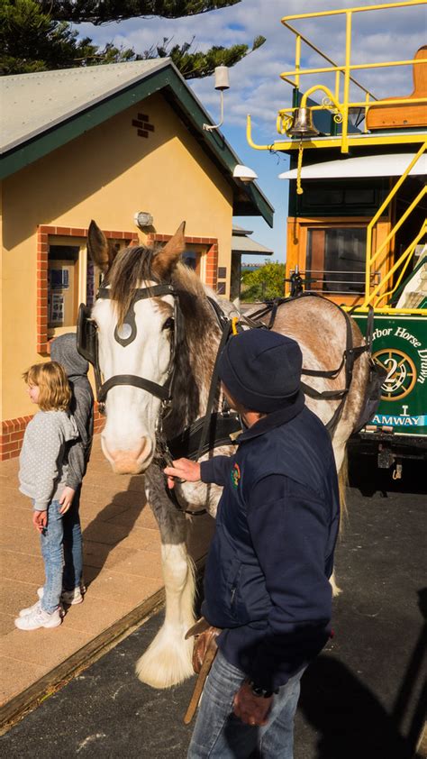
<svg viewBox="0 0 427 759">
<path fill-rule="evenodd" d="M 277 139 L 277 110 L 291 105 L 291 87 L 279 78 L 279 74 L 293 68 L 295 50 L 294 35 L 280 23 L 284 15 L 363 5 L 372 5 L 372 2 L 241 0 L 238 5 L 221 11 L 183 19 L 169 21 L 155 17 L 135 18 L 101 27 L 82 24 L 79 31 L 89 35 L 99 44 L 114 40 L 119 45 L 132 45 L 137 52 L 149 50 L 153 44 L 162 43 L 164 37 L 173 38 L 174 43 L 180 44 L 195 37 L 195 47 L 199 50 L 206 50 L 213 44 L 230 46 L 245 42 L 250 45 L 259 34 L 267 38 L 259 50 L 250 53 L 230 69 L 231 87 L 224 93 L 222 131 L 241 162 L 256 171 L 259 187 L 276 210 L 272 230 L 262 219 L 256 217 L 236 218 L 235 221 L 253 230 L 255 240 L 275 251 L 272 260 L 285 261 L 288 182 L 278 179 L 277 175 L 286 170 L 288 159 L 284 153 L 271 154 L 268 151 L 255 151 L 250 148 L 246 141 L 246 114 L 252 116 L 254 142 L 269 144 Z M 377 2 L 377 5 L 384 4 Z M 307 19 L 295 22 L 295 26 L 332 59 L 338 63 L 343 62 L 343 15 L 329 19 Z M 354 14 L 351 62 L 412 59 L 415 51 L 425 44 L 425 32 L 425 5 Z M 307 52 L 305 62 L 313 67 L 321 65 L 319 59 L 310 52 Z M 410 67 L 372 69 L 360 72 L 358 78 L 377 97 L 406 96 L 413 89 Z M 306 87 L 313 83 L 314 80 L 306 79 Z M 317 83 L 320 83 L 318 78 Z M 220 96 L 213 87 L 213 77 L 189 80 L 188 84 L 193 87 L 196 96 L 212 115 L 213 123 L 217 123 Z M 331 82 L 323 80 L 323 84 Z M 253 257 L 251 261 L 263 259 Z"/>
</svg>

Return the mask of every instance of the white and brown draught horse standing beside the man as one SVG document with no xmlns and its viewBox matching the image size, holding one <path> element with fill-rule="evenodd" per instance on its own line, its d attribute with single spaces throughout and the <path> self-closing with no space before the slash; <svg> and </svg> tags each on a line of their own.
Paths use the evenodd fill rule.
<svg viewBox="0 0 427 759">
<path fill-rule="evenodd" d="M 104 271 L 100 297 L 90 315 L 96 326 L 97 361 L 104 379 L 103 451 L 115 472 L 144 472 L 147 500 L 161 536 L 165 622 L 137 663 L 141 680 L 157 688 L 183 681 L 193 672 L 192 643 L 184 636 L 194 621 L 195 594 L 192 562 L 186 551 L 188 517 L 168 498 L 161 447 L 164 439 L 204 416 L 221 337 L 207 297 L 213 294 L 180 262 L 184 247 L 181 224 L 163 248 L 127 248 L 114 257 L 94 222 L 89 229 L 89 254 Z M 279 306 L 274 328 L 300 344 L 304 368 L 328 371 L 341 366 L 348 344 L 346 319 L 329 301 L 302 297 Z M 353 345 L 362 345 L 354 322 L 351 331 Z M 368 356 L 362 353 L 354 364 L 350 390 L 333 432 L 339 470 L 363 406 L 367 382 Z M 342 389 L 345 367 L 342 365 L 336 379 L 309 377 L 307 383 L 319 392 Z M 170 391 L 171 406 L 166 414 L 165 398 Z M 339 403 L 339 399 L 326 402 L 307 397 L 307 405 L 325 424 Z M 206 455 L 232 451 L 228 446 Z M 180 483 L 176 490 L 184 508 L 206 508 L 215 516 L 221 495 L 217 486 Z"/>
</svg>

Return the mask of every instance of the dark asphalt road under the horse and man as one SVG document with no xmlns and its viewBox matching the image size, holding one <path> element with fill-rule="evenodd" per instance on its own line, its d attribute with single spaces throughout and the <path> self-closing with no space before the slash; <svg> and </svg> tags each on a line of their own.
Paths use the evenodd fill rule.
<svg viewBox="0 0 427 759">
<path fill-rule="evenodd" d="M 424 759 L 415 745 L 427 663 L 425 476 L 419 463 L 405 464 L 402 482 L 376 473 L 379 489 L 367 462 L 358 471 L 337 549 L 343 592 L 333 605 L 335 636 L 304 673 L 295 759 Z M 134 674 L 161 621 L 162 614 L 150 617 L 19 720 L 2 736 L 1 755 L 184 759 L 194 723 L 184 725 L 183 716 L 195 678 L 154 690 Z"/>
</svg>

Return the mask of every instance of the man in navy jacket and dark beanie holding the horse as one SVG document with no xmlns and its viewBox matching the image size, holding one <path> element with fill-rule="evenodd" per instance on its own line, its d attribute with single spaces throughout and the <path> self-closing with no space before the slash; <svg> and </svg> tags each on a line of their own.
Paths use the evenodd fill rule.
<svg viewBox="0 0 427 759">
<path fill-rule="evenodd" d="M 331 635 L 338 480 L 301 370 L 300 348 L 284 335 L 232 336 L 219 375 L 244 425 L 237 453 L 165 469 L 169 487 L 174 478 L 223 485 L 202 606 L 223 632 L 190 759 L 292 759 L 300 679 Z"/>
</svg>

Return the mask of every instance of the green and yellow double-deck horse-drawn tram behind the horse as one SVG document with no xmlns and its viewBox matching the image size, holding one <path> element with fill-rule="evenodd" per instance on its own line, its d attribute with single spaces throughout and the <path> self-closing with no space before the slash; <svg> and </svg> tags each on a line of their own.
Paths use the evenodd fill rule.
<svg viewBox="0 0 427 759">
<path fill-rule="evenodd" d="M 292 87 L 292 104 L 278 112 L 280 137 L 271 145 L 256 144 L 250 116 L 247 124 L 252 148 L 290 155 L 290 170 L 280 175 L 290 180 L 287 295 L 313 293 L 340 305 L 384 371 L 379 407 L 359 431 L 358 445 L 377 454 L 379 467 L 393 467 L 395 479 L 404 457 L 423 458 L 427 451 L 427 46 L 411 59 L 351 61 L 363 59 L 363 38 L 353 30 L 370 28 L 367 14 L 384 30 L 392 12 L 403 21 L 422 5 L 425 0 L 283 18 L 295 36 L 295 65 L 280 75 Z M 336 32 L 342 22 L 341 62 L 295 28 L 304 19 L 315 19 L 325 35 L 328 23 L 334 21 Z M 304 68 L 307 59 L 318 65 Z M 359 81 L 372 80 L 376 69 L 386 97 Z M 407 91 L 412 76 L 410 95 L 396 94 L 396 72 L 407 77 Z"/>
</svg>

